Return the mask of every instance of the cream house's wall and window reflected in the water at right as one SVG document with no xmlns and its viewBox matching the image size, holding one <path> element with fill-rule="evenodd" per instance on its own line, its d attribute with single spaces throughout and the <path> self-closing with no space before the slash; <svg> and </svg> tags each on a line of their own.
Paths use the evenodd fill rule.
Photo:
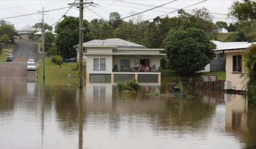
<svg viewBox="0 0 256 149">
<path fill-rule="evenodd" d="M 241 95 L 225 94 L 225 130 L 248 131 L 248 104 Z"/>
</svg>

